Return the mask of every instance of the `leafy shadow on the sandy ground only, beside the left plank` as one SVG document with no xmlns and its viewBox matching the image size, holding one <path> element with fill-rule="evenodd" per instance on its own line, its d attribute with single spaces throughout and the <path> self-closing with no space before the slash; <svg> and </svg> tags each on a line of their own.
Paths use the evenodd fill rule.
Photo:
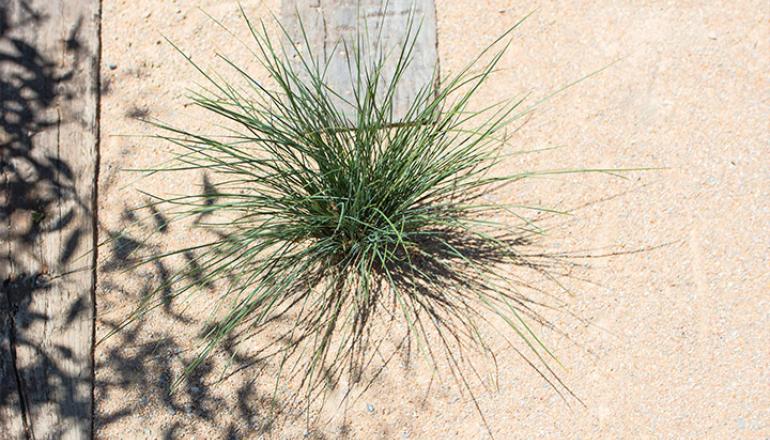
<svg viewBox="0 0 770 440">
<path fill-rule="evenodd" d="M 214 190 L 204 184 L 203 191 L 208 194 Z M 97 438 L 109 437 L 112 427 L 136 426 L 137 419 L 143 429 L 149 430 L 137 435 L 164 439 L 188 438 L 201 429 L 208 438 L 269 437 L 283 421 L 299 417 L 289 405 L 278 404 L 276 398 L 258 389 L 252 373 L 261 371 L 260 361 L 241 353 L 235 344 L 224 344 L 220 360 L 227 364 L 227 371 L 249 369 L 249 379 L 233 378 L 232 374 L 224 377 L 221 363 L 211 359 L 194 374 L 184 376 L 181 383 L 176 382 L 194 355 L 180 343 L 174 329 L 185 328 L 194 320 L 172 293 L 174 262 L 155 259 L 162 253 L 155 242 L 168 239 L 167 234 L 173 233 L 177 225 L 151 201 L 139 209 L 124 208 L 120 221 L 119 227 L 100 225 L 105 250 L 99 264 L 97 322 L 102 333 L 120 331 L 95 349 Z M 147 260 L 152 263 L 142 264 Z M 191 270 L 203 270 L 195 269 L 194 252 L 180 255 L 179 263 Z M 200 284 L 204 289 L 213 289 Z M 152 319 L 123 328 L 122 315 L 118 314 L 115 321 L 109 318 L 113 306 L 121 307 L 127 299 L 151 293 L 163 298 L 152 316 L 167 325 L 153 325 Z M 215 391 L 216 384 L 223 381 L 234 387 L 227 397 Z M 231 421 L 222 422 L 222 414 L 228 414 Z"/>
</svg>

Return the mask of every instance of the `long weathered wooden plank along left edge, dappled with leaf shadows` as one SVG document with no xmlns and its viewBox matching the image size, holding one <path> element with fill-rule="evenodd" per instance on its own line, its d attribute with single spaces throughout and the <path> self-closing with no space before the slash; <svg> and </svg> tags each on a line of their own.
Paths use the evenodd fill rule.
<svg viewBox="0 0 770 440">
<path fill-rule="evenodd" d="M 91 438 L 99 0 L 0 0 L 0 438 Z"/>
</svg>

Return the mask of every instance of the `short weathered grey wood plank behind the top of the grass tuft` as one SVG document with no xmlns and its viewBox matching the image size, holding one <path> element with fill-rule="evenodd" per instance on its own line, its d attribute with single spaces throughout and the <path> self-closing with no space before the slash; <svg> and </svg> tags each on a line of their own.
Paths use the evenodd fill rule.
<svg viewBox="0 0 770 440">
<path fill-rule="evenodd" d="M 284 0 L 281 15 L 289 38 L 299 47 L 305 46 L 304 27 L 313 56 L 329 60 L 327 85 L 347 99 L 353 96 L 351 73 L 357 74 L 351 72 L 348 54 L 338 43 L 344 41 L 350 47 L 357 35 L 366 36 L 364 58 L 371 65 L 383 51 L 387 57 L 384 80 L 388 81 L 413 16 L 412 28 L 416 32 L 419 27 L 419 33 L 412 62 L 395 94 L 394 120 L 405 114 L 420 88 L 438 78 L 433 0 Z M 349 106 L 338 104 L 352 115 Z"/>
</svg>

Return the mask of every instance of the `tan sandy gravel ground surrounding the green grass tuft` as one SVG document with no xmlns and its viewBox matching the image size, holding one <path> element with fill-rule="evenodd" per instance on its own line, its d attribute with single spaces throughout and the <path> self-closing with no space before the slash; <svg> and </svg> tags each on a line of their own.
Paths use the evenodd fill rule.
<svg viewBox="0 0 770 440">
<path fill-rule="evenodd" d="M 280 6 L 243 3 L 252 17 L 266 19 Z M 770 437 L 770 3 L 436 3 L 445 72 L 538 7 L 482 99 L 527 91 L 537 99 L 620 59 L 533 114 L 514 147 L 565 148 L 518 156 L 508 162 L 511 170 L 667 168 L 628 180 L 540 180 L 504 194 L 510 201 L 586 205 L 553 223 L 558 227 L 543 242 L 551 249 L 667 245 L 584 261 L 588 267 L 576 276 L 591 283 L 575 281 L 568 301 L 580 319 L 559 321 L 566 336 L 543 330 L 585 407 L 574 400 L 568 406 L 501 351 L 499 389 L 477 394 L 496 438 Z M 243 51 L 198 7 L 243 34 L 235 2 L 104 1 L 99 218 L 107 230 L 132 223 L 123 211 L 142 200 L 137 188 L 173 194 L 201 183 L 198 175 L 156 176 L 134 185 L 136 176 L 118 168 L 152 166 L 170 150 L 116 136 L 150 132 L 127 116 L 136 110 L 188 128 L 210 126 L 183 108 L 184 90 L 199 77 L 161 34 L 208 65 L 215 65 L 215 50 L 241 58 Z M 189 239 L 180 228 L 166 235 Z M 127 310 L 127 297 L 163 276 L 157 267 L 144 277 L 121 275 L 115 266 L 101 265 L 98 335 Z M 197 328 L 172 315 L 194 318 L 195 304 L 175 303 L 135 334 L 97 347 L 98 436 L 301 438 L 301 417 L 271 417 L 260 391 L 270 377 L 260 368 L 216 387 L 209 383 L 218 370 L 204 371 L 202 383 L 164 397 L 169 374 L 189 357 L 183 336 Z M 449 382 L 434 383 L 428 394 L 430 377 L 424 365 L 392 364 L 344 416 L 314 425 L 313 435 L 483 438 L 467 395 Z"/>
</svg>

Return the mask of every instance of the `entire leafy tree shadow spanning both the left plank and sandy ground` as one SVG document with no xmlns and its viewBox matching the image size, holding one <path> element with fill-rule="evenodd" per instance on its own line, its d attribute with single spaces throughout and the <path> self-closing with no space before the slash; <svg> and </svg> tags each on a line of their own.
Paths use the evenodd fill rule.
<svg viewBox="0 0 770 440">
<path fill-rule="evenodd" d="M 79 21 L 73 24 L 69 37 L 62 42 L 76 60 L 64 72 L 42 48 L 25 37 L 30 35 L 30 28 L 42 28 L 49 19 L 36 11 L 30 2 L 0 4 L 0 409 L 18 412 L 24 419 L 19 423 L 24 425 L 26 433 L 20 431 L 20 435 L 34 435 L 27 420 L 29 413 L 40 411 L 43 405 L 51 403 L 56 405 L 55 412 L 60 417 L 79 425 L 83 432 L 91 432 L 91 399 L 79 395 L 76 389 L 93 385 L 97 396 L 109 390 L 141 389 L 146 396 L 159 399 L 160 407 L 178 416 L 163 433 L 165 438 L 184 438 L 184 428 L 191 419 L 216 424 L 216 414 L 223 407 L 236 411 L 253 429 L 269 431 L 272 419 L 258 414 L 261 407 L 270 405 L 265 398 L 255 397 L 250 388 L 253 384 L 243 385 L 238 391 L 237 402 L 224 401 L 207 385 L 214 376 L 214 369 L 209 364 L 203 365 L 172 395 L 172 380 L 178 373 L 173 361 L 185 356 L 173 337 L 139 340 L 141 327 L 127 329 L 116 336 L 120 338 L 120 344 L 101 353 L 102 359 L 95 362 L 95 369 L 110 368 L 114 374 L 93 384 L 90 376 L 75 376 L 61 367 L 62 359 L 72 358 L 67 347 L 43 347 L 28 337 L 31 329 L 52 322 L 53 318 L 36 311 L 33 297 L 53 294 L 55 288 L 65 282 L 66 275 L 55 267 L 46 267 L 41 240 L 54 234 L 62 235 L 58 263 L 62 267 L 72 263 L 83 251 L 78 248 L 78 243 L 84 238 L 84 231 L 78 227 L 77 219 L 93 216 L 92 201 L 83 200 L 77 194 L 77 176 L 72 166 L 38 146 L 41 137 L 50 135 L 62 124 L 76 122 L 62 120 L 57 106 L 66 100 L 78 99 L 69 94 L 67 85 L 76 69 L 82 67 Z M 124 217 L 128 223 L 138 222 L 131 212 L 126 211 Z M 159 233 L 166 232 L 168 224 L 162 213 L 152 212 L 151 219 Z M 132 256 L 146 247 L 141 240 L 133 239 L 123 231 L 102 228 L 102 232 L 111 238 L 111 243 L 103 251 L 107 261 L 101 267 L 100 277 L 108 278 L 112 273 L 127 270 Z M 37 269 L 19 271 L 20 267 Z M 170 271 L 165 262 L 158 261 L 151 269 L 150 277 L 141 274 L 138 278 L 141 280 L 139 290 L 168 285 Z M 169 319 L 186 323 L 184 314 L 173 306 L 170 290 L 164 288 L 163 294 L 162 312 Z M 69 326 L 79 319 L 81 313 L 87 311 L 85 309 L 83 301 L 74 300 L 67 310 L 62 311 L 64 325 Z M 17 359 L 17 351 L 22 350 L 32 353 L 33 362 Z M 58 356 L 52 356 L 52 353 Z M 234 359 L 239 358 L 234 356 Z M 47 390 L 26 390 L 29 384 L 48 384 L 54 395 L 47 395 Z M 99 403 L 97 399 L 97 408 Z M 96 428 L 118 423 L 148 403 L 151 402 L 121 403 L 118 409 L 108 414 L 96 411 Z M 243 427 L 224 428 L 222 438 L 246 436 L 242 433 Z M 50 434 L 56 437 L 63 433 Z M 98 435 L 98 430 L 95 434 Z"/>
</svg>

